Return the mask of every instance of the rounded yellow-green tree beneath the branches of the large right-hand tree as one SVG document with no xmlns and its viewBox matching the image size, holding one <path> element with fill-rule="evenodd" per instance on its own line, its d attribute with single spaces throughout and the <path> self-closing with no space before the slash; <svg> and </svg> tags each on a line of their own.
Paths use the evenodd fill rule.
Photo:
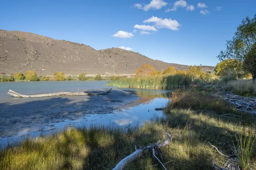
<svg viewBox="0 0 256 170">
<path fill-rule="evenodd" d="M 242 71 L 242 62 L 236 59 L 224 59 L 216 65 L 215 74 L 219 77 L 241 78 L 244 73 Z"/>
</svg>

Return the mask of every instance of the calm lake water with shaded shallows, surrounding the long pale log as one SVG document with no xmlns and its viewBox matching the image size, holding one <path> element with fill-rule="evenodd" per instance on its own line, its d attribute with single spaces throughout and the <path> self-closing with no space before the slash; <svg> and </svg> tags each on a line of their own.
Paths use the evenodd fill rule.
<svg viewBox="0 0 256 170">
<path fill-rule="evenodd" d="M 170 91 L 114 88 L 108 81 L 0 82 L 0 147 L 26 136 L 36 137 L 69 126 L 142 125 L 153 116 L 162 116 Z M 113 88 L 99 96 L 15 98 L 9 89 L 20 94 L 61 91 L 86 91 Z"/>
</svg>

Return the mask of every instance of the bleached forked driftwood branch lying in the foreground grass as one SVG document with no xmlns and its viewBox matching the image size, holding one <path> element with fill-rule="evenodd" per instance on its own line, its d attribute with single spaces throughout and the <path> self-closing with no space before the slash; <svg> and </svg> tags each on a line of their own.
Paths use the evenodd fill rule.
<svg viewBox="0 0 256 170">
<path fill-rule="evenodd" d="M 143 155 L 143 153 L 148 152 L 148 150 L 152 150 L 154 157 L 160 162 L 160 160 L 154 154 L 155 150 L 157 148 L 164 147 L 167 144 L 171 144 L 171 142 L 172 142 L 172 136 L 169 135 L 168 133 L 166 133 L 166 140 L 163 143 L 159 144 L 159 142 L 157 142 L 156 144 L 151 144 L 151 145 L 148 145 L 148 146 L 140 148 L 140 149 L 137 149 L 135 146 L 134 153 L 132 153 L 129 156 L 126 156 L 124 159 L 119 161 L 119 163 L 116 164 L 116 167 L 114 167 L 113 170 L 123 170 L 127 164 L 129 164 L 132 161 L 134 161 L 135 159 L 139 158 L 140 156 Z M 160 162 L 160 164 L 163 166 L 162 162 Z M 164 167 L 164 169 L 166 169 L 166 168 Z"/>
</svg>

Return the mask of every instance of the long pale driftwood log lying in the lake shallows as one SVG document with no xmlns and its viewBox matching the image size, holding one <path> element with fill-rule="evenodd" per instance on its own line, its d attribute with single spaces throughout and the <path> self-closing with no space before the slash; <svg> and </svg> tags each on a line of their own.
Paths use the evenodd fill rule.
<svg viewBox="0 0 256 170">
<path fill-rule="evenodd" d="M 19 98 L 30 98 L 30 97 L 51 97 L 51 96 L 92 96 L 92 95 L 102 95 L 102 94 L 109 94 L 111 93 L 112 88 L 109 91 L 102 92 L 102 93 L 86 93 L 86 92 L 58 92 L 58 93 L 48 93 L 48 94 L 34 94 L 34 95 L 24 95 L 18 94 L 15 91 L 9 90 L 7 94 L 10 94 L 15 97 Z"/>
</svg>

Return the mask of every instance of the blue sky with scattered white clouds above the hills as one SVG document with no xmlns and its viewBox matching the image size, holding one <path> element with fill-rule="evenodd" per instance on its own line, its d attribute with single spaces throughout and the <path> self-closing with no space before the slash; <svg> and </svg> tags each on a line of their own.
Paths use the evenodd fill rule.
<svg viewBox="0 0 256 170">
<path fill-rule="evenodd" d="M 256 0 L 8 0 L 0 29 L 215 66 L 241 20 L 254 14 Z"/>
</svg>

